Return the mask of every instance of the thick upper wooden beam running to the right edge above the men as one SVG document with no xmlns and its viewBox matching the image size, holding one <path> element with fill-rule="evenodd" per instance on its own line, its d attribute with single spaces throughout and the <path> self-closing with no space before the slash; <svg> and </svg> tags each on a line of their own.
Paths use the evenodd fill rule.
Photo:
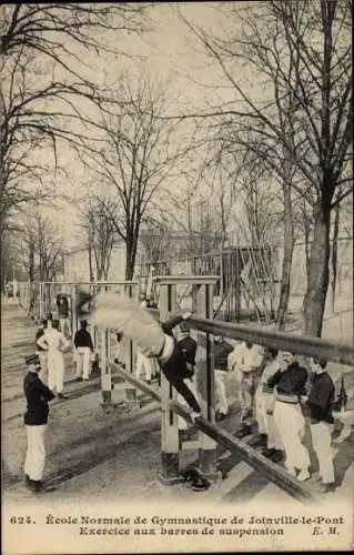
<svg viewBox="0 0 354 555">
<path fill-rule="evenodd" d="M 296 335 L 286 332 L 274 332 L 262 327 L 251 327 L 219 320 L 206 320 L 191 316 L 185 321 L 193 330 L 222 335 L 239 341 L 250 341 L 257 345 L 291 351 L 307 356 L 323 356 L 340 364 L 354 365 L 354 347 L 340 345 L 320 337 Z"/>
</svg>

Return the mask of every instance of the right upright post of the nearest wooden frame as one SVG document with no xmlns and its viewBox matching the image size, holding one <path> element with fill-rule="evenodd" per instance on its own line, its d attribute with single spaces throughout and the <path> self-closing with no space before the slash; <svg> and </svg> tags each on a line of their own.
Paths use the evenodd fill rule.
<svg viewBox="0 0 354 555">
<path fill-rule="evenodd" d="M 213 284 L 199 285 L 195 291 L 196 315 L 212 320 Z M 199 349 L 196 351 L 196 389 L 202 415 L 212 424 L 215 423 L 215 386 L 211 335 L 198 332 Z M 199 465 L 203 474 L 216 475 L 216 443 L 208 435 L 199 432 Z"/>
</svg>

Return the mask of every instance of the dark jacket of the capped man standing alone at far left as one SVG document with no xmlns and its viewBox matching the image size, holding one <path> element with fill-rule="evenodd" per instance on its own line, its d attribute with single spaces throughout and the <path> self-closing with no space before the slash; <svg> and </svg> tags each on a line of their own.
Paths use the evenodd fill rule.
<svg viewBox="0 0 354 555">
<path fill-rule="evenodd" d="M 48 401 L 54 398 L 54 394 L 39 379 L 37 372 L 29 372 L 23 380 L 23 390 L 27 398 L 27 412 L 24 424 L 27 426 L 40 426 L 47 424 L 49 406 Z"/>
</svg>

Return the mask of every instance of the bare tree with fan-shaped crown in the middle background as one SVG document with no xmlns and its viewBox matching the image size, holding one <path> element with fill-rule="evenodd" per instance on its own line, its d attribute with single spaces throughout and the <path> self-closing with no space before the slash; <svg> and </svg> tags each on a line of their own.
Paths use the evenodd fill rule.
<svg viewBox="0 0 354 555">
<path fill-rule="evenodd" d="M 171 122 L 158 118 L 165 108 L 161 85 L 141 78 L 136 90 L 121 83 L 119 95 L 123 104 L 117 113 L 102 115 L 105 145 L 85 163 L 110 190 L 113 204 L 104 202 L 104 208 L 125 243 L 125 279 L 131 280 L 141 223 L 181 152 L 172 145 Z"/>
</svg>

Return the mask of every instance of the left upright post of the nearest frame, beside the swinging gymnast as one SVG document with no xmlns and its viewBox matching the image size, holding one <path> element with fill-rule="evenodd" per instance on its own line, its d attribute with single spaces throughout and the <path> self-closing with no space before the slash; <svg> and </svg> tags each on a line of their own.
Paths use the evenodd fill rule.
<svg viewBox="0 0 354 555">
<path fill-rule="evenodd" d="M 160 320 L 166 319 L 168 313 L 175 310 L 175 285 L 160 285 Z M 176 415 L 169 410 L 169 402 L 175 398 L 175 391 L 161 373 L 161 474 L 164 484 L 174 484 L 181 481 L 179 474 L 179 426 Z"/>
</svg>

